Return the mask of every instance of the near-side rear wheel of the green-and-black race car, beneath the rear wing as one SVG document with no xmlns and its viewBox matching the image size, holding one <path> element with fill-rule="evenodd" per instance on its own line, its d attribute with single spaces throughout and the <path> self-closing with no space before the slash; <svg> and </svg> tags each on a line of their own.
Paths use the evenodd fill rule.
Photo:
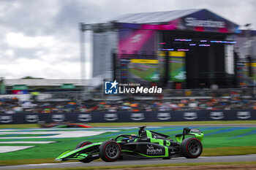
<svg viewBox="0 0 256 170">
<path fill-rule="evenodd" d="M 197 158 L 203 151 L 203 145 L 196 138 L 187 138 L 181 142 L 181 154 L 186 158 Z"/>
</svg>

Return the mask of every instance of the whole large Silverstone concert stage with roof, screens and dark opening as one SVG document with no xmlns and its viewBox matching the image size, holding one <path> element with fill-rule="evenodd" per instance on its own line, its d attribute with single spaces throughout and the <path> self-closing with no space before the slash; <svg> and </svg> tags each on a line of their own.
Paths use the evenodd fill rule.
<svg viewBox="0 0 256 170">
<path fill-rule="evenodd" d="M 236 87 L 233 46 L 241 31 L 208 9 L 127 14 L 83 26 L 94 31 L 93 77 L 167 88 Z"/>
</svg>

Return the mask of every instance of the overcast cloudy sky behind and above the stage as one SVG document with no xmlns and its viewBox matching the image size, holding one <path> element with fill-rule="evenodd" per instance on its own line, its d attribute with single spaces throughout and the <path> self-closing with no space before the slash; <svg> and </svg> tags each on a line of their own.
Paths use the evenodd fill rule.
<svg viewBox="0 0 256 170">
<path fill-rule="evenodd" d="M 0 77 L 80 78 L 78 23 L 118 15 L 175 9 L 210 9 L 256 29 L 255 0 L 0 0 Z M 91 57 L 86 38 L 86 57 Z M 86 77 L 91 77 L 86 63 Z"/>
</svg>

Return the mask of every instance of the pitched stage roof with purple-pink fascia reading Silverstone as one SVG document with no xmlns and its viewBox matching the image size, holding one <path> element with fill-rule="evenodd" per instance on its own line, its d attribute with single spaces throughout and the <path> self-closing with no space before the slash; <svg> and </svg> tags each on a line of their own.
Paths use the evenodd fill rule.
<svg viewBox="0 0 256 170">
<path fill-rule="evenodd" d="M 112 18 L 116 28 L 239 33 L 238 24 L 208 9 L 142 12 Z M 139 26 L 140 25 L 140 26 Z"/>
</svg>

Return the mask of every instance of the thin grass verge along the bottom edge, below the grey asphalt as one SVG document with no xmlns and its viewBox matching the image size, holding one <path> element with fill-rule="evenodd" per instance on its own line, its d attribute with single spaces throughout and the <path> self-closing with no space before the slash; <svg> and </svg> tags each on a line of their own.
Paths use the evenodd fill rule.
<svg viewBox="0 0 256 170">
<path fill-rule="evenodd" d="M 136 165 L 136 166 L 93 166 L 93 167 L 70 167 L 70 168 L 48 168 L 49 170 L 94 170 L 94 169 L 132 169 L 145 167 L 162 167 L 162 166 L 211 166 L 211 165 L 256 165 L 256 161 L 247 162 L 219 162 L 219 163 L 167 163 L 152 165 Z M 23 169 L 25 170 L 25 169 Z M 45 169 L 37 169 L 45 170 Z"/>
</svg>

